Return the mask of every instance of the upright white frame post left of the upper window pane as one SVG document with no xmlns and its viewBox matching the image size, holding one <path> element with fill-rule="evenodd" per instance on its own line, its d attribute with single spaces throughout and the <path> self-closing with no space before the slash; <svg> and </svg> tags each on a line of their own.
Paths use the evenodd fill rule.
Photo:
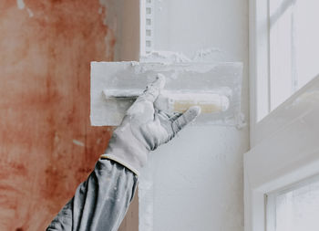
<svg viewBox="0 0 319 231">
<path fill-rule="evenodd" d="M 286 0 L 285 4 L 293 4 L 294 1 Z M 265 128 L 275 120 L 274 110 L 271 109 L 270 75 L 270 25 L 273 23 L 273 18 L 270 16 L 270 0 L 250 0 L 249 8 L 250 140 L 253 147 L 273 132 Z"/>
</svg>

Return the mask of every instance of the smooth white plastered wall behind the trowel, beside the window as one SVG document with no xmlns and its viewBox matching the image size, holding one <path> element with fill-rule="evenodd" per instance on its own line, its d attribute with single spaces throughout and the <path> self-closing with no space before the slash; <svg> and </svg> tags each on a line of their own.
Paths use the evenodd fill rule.
<svg viewBox="0 0 319 231">
<path fill-rule="evenodd" d="M 191 58 L 214 48 L 214 61 L 243 62 L 242 111 L 249 121 L 247 0 L 156 0 L 155 8 L 154 49 Z M 139 231 L 243 230 L 248 149 L 248 127 L 190 126 L 152 152 L 140 184 Z"/>
</svg>

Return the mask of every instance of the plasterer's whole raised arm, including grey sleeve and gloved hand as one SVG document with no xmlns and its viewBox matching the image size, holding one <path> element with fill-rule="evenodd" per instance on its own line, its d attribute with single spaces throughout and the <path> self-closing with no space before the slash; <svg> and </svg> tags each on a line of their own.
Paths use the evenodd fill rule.
<svg viewBox="0 0 319 231">
<path fill-rule="evenodd" d="M 94 172 L 78 186 L 74 198 L 59 212 L 48 231 L 118 229 L 149 152 L 169 142 L 201 112 L 199 107 L 190 107 L 182 114 L 158 110 L 154 101 L 164 84 L 165 78 L 159 76 L 129 108 Z"/>
</svg>

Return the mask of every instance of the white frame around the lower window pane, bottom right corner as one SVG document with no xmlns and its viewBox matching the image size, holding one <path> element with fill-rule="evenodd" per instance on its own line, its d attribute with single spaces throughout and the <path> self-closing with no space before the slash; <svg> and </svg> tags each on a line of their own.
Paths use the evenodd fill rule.
<svg viewBox="0 0 319 231">
<path fill-rule="evenodd" d="M 315 80 L 315 87 L 319 88 L 319 78 Z M 307 92 L 311 91 L 304 94 Z M 286 106 L 293 105 L 296 99 L 293 97 Z M 297 110 L 304 106 L 300 105 Z M 244 154 L 245 231 L 266 230 L 266 194 L 319 174 L 319 122 L 314 124 L 316 118 L 319 118 L 319 106 L 305 111 L 299 119 Z"/>
</svg>

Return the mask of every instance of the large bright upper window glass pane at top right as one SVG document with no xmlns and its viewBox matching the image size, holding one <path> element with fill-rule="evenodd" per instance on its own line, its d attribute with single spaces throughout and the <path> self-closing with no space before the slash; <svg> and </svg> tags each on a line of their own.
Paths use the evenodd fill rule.
<svg viewBox="0 0 319 231">
<path fill-rule="evenodd" d="M 319 74 L 319 1 L 270 0 L 269 3 L 273 110 Z"/>
</svg>

